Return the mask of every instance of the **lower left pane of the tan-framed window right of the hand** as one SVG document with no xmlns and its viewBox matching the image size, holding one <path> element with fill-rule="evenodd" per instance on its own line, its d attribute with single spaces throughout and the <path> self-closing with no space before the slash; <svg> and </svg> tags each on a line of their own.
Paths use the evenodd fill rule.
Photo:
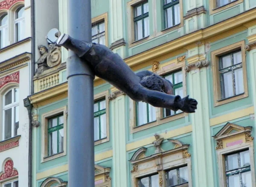
<svg viewBox="0 0 256 187">
<path fill-rule="evenodd" d="M 221 74 L 221 88 L 223 99 L 234 95 L 232 71 L 229 71 L 225 74 Z"/>
</svg>

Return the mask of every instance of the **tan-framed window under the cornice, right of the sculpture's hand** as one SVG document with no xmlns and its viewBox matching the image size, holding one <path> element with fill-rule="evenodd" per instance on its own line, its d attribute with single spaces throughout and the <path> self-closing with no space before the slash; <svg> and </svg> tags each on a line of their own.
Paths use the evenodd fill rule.
<svg viewBox="0 0 256 187">
<path fill-rule="evenodd" d="M 211 52 L 214 106 L 248 96 L 244 40 Z"/>
</svg>

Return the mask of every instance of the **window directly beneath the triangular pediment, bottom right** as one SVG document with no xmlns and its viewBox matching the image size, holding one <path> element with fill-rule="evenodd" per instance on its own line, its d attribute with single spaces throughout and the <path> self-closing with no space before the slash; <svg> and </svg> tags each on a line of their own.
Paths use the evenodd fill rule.
<svg viewBox="0 0 256 187">
<path fill-rule="evenodd" d="M 227 187 L 251 187 L 249 150 L 225 156 Z"/>
</svg>

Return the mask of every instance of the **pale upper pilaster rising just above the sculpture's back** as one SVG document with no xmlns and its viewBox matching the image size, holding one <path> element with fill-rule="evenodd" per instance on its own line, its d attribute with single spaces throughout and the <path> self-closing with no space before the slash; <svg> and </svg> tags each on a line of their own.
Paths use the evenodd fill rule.
<svg viewBox="0 0 256 187">
<path fill-rule="evenodd" d="M 125 40 L 124 40 L 124 22 L 123 22 L 123 3 L 122 0 L 109 0 L 110 5 L 110 20 L 111 20 L 111 50 L 119 54 L 120 57 L 125 57 Z"/>
</svg>

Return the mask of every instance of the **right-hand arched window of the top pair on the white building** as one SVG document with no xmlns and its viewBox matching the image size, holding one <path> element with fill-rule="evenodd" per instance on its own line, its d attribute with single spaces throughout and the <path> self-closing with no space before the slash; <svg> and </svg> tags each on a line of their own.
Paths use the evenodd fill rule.
<svg viewBox="0 0 256 187">
<path fill-rule="evenodd" d="M 25 35 L 25 9 L 24 6 L 17 8 L 15 11 L 15 42 L 18 42 L 24 38 Z"/>
</svg>

